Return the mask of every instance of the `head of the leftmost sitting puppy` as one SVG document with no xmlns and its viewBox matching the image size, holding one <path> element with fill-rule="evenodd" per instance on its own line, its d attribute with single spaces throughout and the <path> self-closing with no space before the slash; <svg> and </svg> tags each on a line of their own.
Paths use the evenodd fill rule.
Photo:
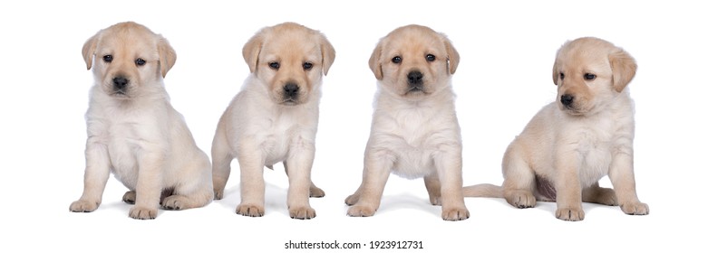
<svg viewBox="0 0 708 253">
<path fill-rule="evenodd" d="M 162 36 L 139 23 L 116 23 L 83 44 L 86 68 L 114 98 L 134 98 L 161 83 L 177 55 Z M 95 56 L 95 61 L 94 61 Z"/>
</svg>

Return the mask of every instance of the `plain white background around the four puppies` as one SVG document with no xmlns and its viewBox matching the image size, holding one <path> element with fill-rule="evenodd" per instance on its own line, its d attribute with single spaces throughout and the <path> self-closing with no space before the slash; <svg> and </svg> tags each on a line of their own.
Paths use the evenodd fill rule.
<svg viewBox="0 0 708 253">
<path fill-rule="evenodd" d="M 411 252 L 704 250 L 708 19 L 702 5 L 176 2 L 0 4 L 0 251 L 285 252 L 291 251 L 284 249 L 289 240 L 422 240 L 424 249 L 405 250 Z M 82 192 L 83 114 L 92 86 L 82 44 L 122 21 L 145 24 L 177 51 L 166 86 L 173 106 L 207 153 L 218 117 L 247 77 L 241 57 L 247 39 L 264 26 L 286 21 L 325 33 L 337 54 L 321 103 L 313 179 L 326 196 L 311 200 L 314 220 L 288 217 L 281 166 L 265 172 L 266 215 L 237 215 L 237 164 L 225 199 L 205 208 L 160 211 L 156 220 L 132 220 L 130 206 L 121 202 L 125 188 L 111 178 L 97 211 L 68 210 Z M 651 214 L 628 216 L 618 207 L 584 204 L 586 219 L 566 222 L 554 217 L 555 203 L 517 210 L 500 199 L 466 199 L 470 219 L 449 222 L 441 220 L 440 207 L 428 203 L 421 179 L 392 176 L 373 217 L 347 217 L 344 198 L 361 182 L 371 122 L 375 79 L 367 61 L 381 37 L 409 23 L 446 33 L 461 54 L 452 82 L 465 184 L 501 183 L 501 156 L 509 141 L 555 98 L 551 67 L 563 42 L 596 36 L 625 48 L 639 66 L 629 85 L 636 104 L 635 173 L 637 193 Z M 609 186 L 607 182 L 602 183 Z M 314 250 L 300 252 L 309 251 Z"/>
</svg>

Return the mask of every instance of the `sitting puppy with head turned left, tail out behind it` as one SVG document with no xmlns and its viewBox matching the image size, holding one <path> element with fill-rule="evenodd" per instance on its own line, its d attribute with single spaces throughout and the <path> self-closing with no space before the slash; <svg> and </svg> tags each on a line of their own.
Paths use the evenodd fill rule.
<svg viewBox="0 0 708 253">
<path fill-rule="evenodd" d="M 648 214 L 635 191 L 634 104 L 626 89 L 635 70 L 632 56 L 610 42 L 566 42 L 553 65 L 556 101 L 509 145 L 504 183 L 465 187 L 465 196 L 504 197 L 518 208 L 557 201 L 560 220 L 583 220 L 582 201 Z M 599 186 L 605 175 L 615 190 Z"/>
</svg>

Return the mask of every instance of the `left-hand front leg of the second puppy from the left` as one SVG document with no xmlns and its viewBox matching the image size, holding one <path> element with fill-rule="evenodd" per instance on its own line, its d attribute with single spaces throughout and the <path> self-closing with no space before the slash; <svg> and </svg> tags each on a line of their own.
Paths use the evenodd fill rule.
<svg viewBox="0 0 708 253">
<path fill-rule="evenodd" d="M 261 217 L 266 213 L 266 182 L 263 179 L 263 168 L 266 164 L 263 153 L 259 149 L 241 148 L 238 154 L 241 169 L 241 203 L 236 207 L 236 213 Z"/>
</svg>

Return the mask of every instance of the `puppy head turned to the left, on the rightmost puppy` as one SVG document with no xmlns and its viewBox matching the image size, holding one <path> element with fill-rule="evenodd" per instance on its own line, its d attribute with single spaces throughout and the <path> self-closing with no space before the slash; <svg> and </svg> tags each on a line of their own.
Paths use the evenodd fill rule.
<svg viewBox="0 0 708 253">
<path fill-rule="evenodd" d="M 566 42 L 553 65 L 556 101 L 572 115 L 604 108 L 635 77 L 636 62 L 621 48 L 597 38 Z"/>
</svg>

